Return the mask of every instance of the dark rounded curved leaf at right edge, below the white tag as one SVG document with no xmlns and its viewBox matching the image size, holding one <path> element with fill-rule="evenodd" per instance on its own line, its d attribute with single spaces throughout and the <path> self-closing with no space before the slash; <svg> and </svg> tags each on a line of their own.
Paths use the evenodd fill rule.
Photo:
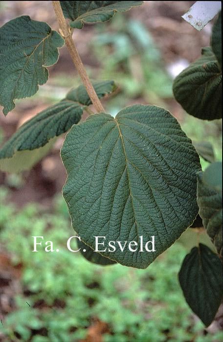
<svg viewBox="0 0 223 342">
<path fill-rule="evenodd" d="M 203 120 L 222 117 L 222 72 L 210 47 L 174 80 L 173 92 L 183 109 Z"/>
</svg>

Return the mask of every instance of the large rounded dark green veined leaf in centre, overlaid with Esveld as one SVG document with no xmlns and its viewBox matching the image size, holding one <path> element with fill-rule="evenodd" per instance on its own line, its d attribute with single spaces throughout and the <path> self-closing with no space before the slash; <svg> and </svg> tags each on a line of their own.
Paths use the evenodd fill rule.
<svg viewBox="0 0 223 342">
<path fill-rule="evenodd" d="M 100 252 L 146 268 L 192 224 L 197 213 L 199 156 L 177 120 L 156 106 L 134 105 L 91 115 L 72 127 L 61 150 L 67 169 L 63 195 L 72 226 L 95 250 L 95 236 L 127 241 L 122 252 Z M 132 252 L 131 241 L 143 249 Z M 155 236 L 156 251 L 145 251 Z M 152 244 L 149 244 L 151 249 Z M 99 251 L 104 250 L 100 245 Z"/>
</svg>

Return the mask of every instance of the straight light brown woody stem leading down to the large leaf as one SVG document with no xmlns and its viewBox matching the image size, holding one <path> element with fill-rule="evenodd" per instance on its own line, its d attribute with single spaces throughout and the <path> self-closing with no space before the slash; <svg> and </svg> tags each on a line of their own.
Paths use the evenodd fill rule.
<svg viewBox="0 0 223 342">
<path fill-rule="evenodd" d="M 87 75 L 87 72 L 85 70 L 85 67 L 82 63 L 82 60 L 79 56 L 79 53 L 77 51 L 76 46 L 74 45 L 73 39 L 72 39 L 72 34 L 70 28 L 67 26 L 60 1 L 54 1 L 52 0 L 53 3 L 53 8 L 56 14 L 56 18 L 60 24 L 60 31 L 62 33 L 63 38 L 65 39 L 66 46 L 68 48 L 68 51 L 70 53 L 70 56 L 72 58 L 72 61 L 75 65 L 75 67 L 78 70 L 78 73 L 82 79 L 82 82 L 89 94 L 89 97 L 91 99 L 92 104 L 94 105 L 95 109 L 97 112 L 105 112 L 101 101 L 99 100 L 92 83 L 89 80 L 89 77 Z"/>
</svg>

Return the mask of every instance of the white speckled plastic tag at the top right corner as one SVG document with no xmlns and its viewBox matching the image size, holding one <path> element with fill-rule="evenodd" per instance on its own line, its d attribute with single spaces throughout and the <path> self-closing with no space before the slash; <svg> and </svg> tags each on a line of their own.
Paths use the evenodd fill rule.
<svg viewBox="0 0 223 342">
<path fill-rule="evenodd" d="M 182 18 L 196 28 L 196 30 L 201 31 L 221 9 L 221 1 L 196 1 Z"/>
</svg>

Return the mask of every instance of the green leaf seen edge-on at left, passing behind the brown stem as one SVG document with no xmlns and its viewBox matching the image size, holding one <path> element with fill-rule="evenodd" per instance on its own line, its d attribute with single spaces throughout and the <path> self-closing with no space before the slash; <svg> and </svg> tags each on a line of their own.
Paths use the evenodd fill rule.
<svg viewBox="0 0 223 342">
<path fill-rule="evenodd" d="M 93 87 L 99 98 L 115 89 L 113 81 L 93 82 Z M 89 95 L 81 85 L 69 91 L 66 98 L 59 103 L 26 121 L 0 149 L 0 169 L 7 172 L 29 169 L 33 166 L 31 160 L 38 161 L 38 156 L 42 158 L 41 151 L 48 152 L 48 149 L 35 153 L 36 158 L 33 157 L 31 160 L 31 154 L 27 150 L 39 149 L 53 137 L 67 132 L 73 124 L 80 121 L 85 107 L 89 104 L 91 104 Z M 26 153 L 21 153 L 24 150 Z"/>
</svg>

